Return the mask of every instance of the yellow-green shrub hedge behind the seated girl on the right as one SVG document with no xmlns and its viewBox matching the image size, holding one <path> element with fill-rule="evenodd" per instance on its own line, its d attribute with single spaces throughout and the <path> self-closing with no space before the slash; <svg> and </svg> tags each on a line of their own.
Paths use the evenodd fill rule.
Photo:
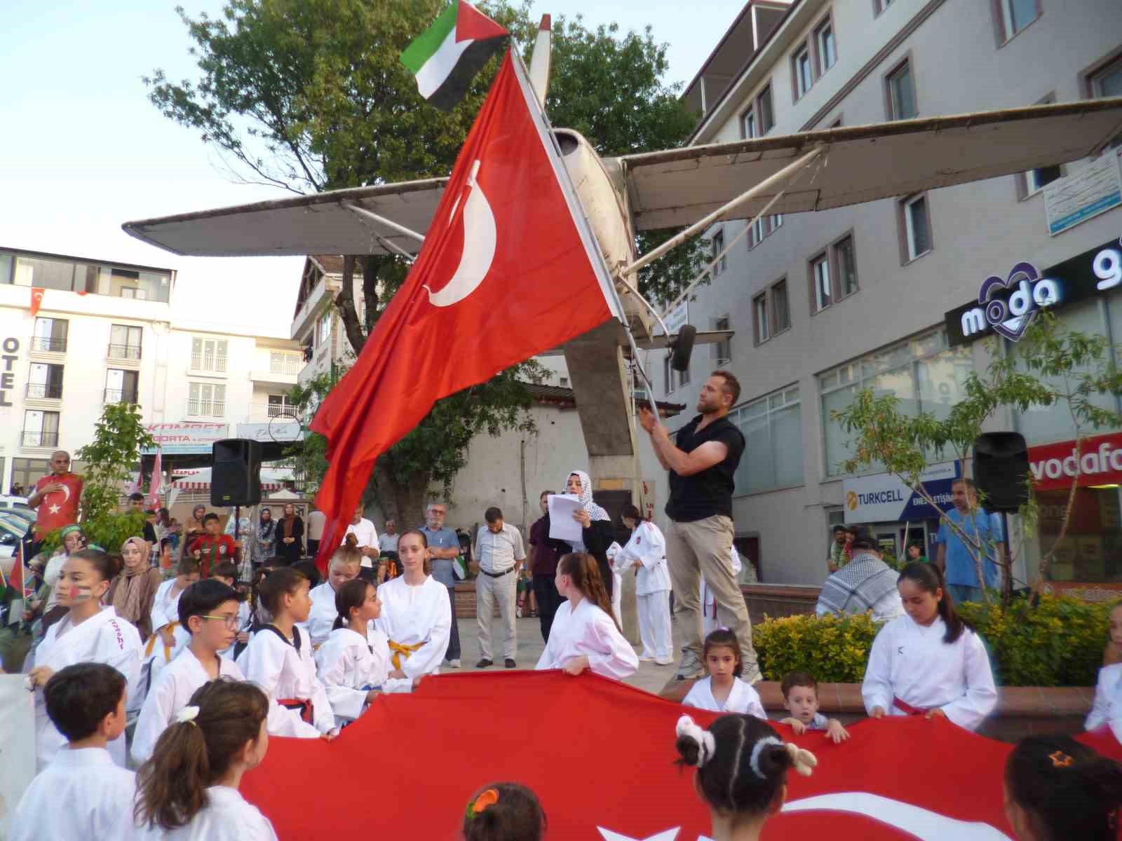
<svg viewBox="0 0 1122 841">
<path fill-rule="evenodd" d="M 1000 604 L 959 606 L 990 650 L 1003 686 L 1093 686 L 1103 662 L 1110 604 L 1041 597 Z M 861 683 L 880 626 L 867 616 L 792 616 L 752 627 L 760 668 L 769 681 L 806 671 L 819 681 Z"/>
</svg>

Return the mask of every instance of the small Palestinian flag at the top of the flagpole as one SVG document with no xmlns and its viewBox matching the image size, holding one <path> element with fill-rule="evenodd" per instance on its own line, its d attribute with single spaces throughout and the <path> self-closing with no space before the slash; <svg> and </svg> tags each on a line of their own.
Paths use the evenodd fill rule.
<svg viewBox="0 0 1122 841">
<path fill-rule="evenodd" d="M 487 59 L 511 34 L 471 3 L 452 3 L 402 53 L 417 89 L 436 108 L 451 111 Z"/>
</svg>

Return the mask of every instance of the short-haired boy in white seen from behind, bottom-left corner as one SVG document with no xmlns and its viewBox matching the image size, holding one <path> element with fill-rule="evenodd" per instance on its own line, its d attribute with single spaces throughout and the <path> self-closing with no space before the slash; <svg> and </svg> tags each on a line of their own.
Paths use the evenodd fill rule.
<svg viewBox="0 0 1122 841">
<path fill-rule="evenodd" d="M 136 775 L 105 749 L 125 741 L 125 676 L 103 663 L 79 663 L 56 672 L 43 694 L 70 743 L 24 793 L 9 841 L 128 838 Z"/>
</svg>

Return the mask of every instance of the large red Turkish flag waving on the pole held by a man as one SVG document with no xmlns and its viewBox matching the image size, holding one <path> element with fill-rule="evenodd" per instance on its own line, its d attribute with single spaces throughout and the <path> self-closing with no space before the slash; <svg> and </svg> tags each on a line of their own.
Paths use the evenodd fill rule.
<svg viewBox="0 0 1122 841">
<path fill-rule="evenodd" d="M 328 438 L 316 564 L 375 460 L 441 397 L 614 314 L 610 278 L 524 70 L 509 54 L 460 150 L 424 246 L 311 428 Z"/>
</svg>

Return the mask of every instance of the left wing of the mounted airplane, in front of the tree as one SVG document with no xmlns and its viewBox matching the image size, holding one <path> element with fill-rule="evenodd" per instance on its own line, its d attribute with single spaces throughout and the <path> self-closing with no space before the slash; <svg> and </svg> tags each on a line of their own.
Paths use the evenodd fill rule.
<svg viewBox="0 0 1122 841">
<path fill-rule="evenodd" d="M 348 205 L 424 233 L 447 181 L 427 178 L 333 190 L 142 219 L 121 227 L 139 240 L 173 253 L 194 257 L 389 253 L 387 241 L 415 255 L 421 250 L 421 242 L 355 213 Z"/>
</svg>

